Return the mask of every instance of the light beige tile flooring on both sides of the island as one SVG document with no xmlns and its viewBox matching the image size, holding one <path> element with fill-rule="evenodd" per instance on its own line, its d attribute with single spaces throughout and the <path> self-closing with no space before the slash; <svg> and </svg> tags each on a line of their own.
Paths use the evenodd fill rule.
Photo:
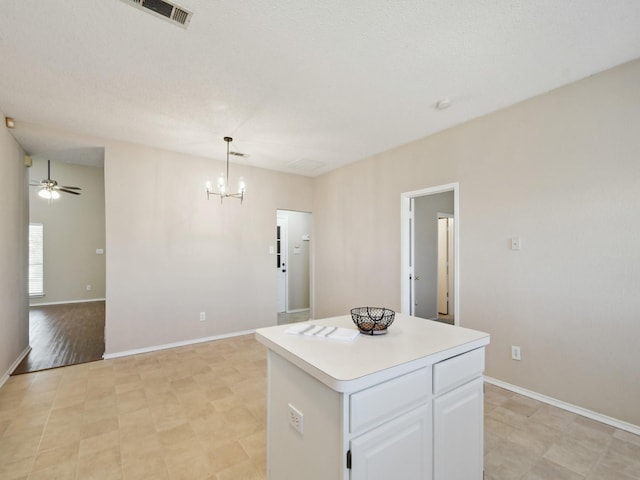
<svg viewBox="0 0 640 480">
<path fill-rule="evenodd" d="M 0 478 L 264 480 L 252 336 L 11 377 Z M 487 385 L 487 480 L 640 479 L 640 437 Z"/>
</svg>

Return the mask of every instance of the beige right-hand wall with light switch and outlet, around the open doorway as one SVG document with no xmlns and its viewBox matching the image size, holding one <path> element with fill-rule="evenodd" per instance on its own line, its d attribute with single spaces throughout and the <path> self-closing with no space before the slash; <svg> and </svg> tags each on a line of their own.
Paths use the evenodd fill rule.
<svg viewBox="0 0 640 480">
<path fill-rule="evenodd" d="M 487 374 L 640 425 L 638 85 L 635 61 L 318 178 L 316 317 L 399 309 L 400 194 L 457 181 Z"/>
</svg>

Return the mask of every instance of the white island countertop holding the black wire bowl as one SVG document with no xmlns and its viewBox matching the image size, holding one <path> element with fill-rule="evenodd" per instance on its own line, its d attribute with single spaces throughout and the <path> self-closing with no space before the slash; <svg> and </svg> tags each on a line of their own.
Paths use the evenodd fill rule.
<svg viewBox="0 0 640 480">
<path fill-rule="evenodd" d="M 306 322 L 357 330 L 350 315 Z M 352 392 L 445 358 L 483 347 L 489 334 L 396 313 L 385 335 L 352 342 L 285 333 L 290 325 L 256 330 L 256 339 L 328 387 Z M 375 377 L 375 378 L 374 378 Z"/>
</svg>

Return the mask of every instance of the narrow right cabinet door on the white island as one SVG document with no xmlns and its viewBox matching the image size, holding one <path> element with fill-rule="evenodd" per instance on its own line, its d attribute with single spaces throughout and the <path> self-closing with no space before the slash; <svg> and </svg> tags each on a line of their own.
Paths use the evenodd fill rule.
<svg viewBox="0 0 640 480">
<path fill-rule="evenodd" d="M 433 401 L 435 480 L 481 480 L 483 380 L 477 378 Z"/>
</svg>

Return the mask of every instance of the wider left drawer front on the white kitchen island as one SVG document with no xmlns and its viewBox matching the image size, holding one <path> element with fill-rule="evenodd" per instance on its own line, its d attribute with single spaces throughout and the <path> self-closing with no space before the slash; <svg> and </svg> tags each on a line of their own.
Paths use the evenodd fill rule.
<svg viewBox="0 0 640 480">
<path fill-rule="evenodd" d="M 431 368 L 421 368 L 354 393 L 349 399 L 349 431 L 357 432 L 387 421 L 429 401 Z"/>
</svg>

